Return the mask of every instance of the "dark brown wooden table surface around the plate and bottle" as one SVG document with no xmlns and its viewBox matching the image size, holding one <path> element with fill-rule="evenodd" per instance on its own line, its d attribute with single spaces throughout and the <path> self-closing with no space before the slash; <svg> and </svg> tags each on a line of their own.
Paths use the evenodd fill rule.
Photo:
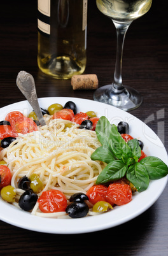
<svg viewBox="0 0 168 256">
<path fill-rule="evenodd" d="M 73 91 L 70 80 L 54 80 L 38 70 L 37 1 L 2 1 L 0 25 L 0 107 L 24 100 L 15 85 L 25 70 L 34 76 L 38 97 L 93 99 L 93 91 Z M 132 115 L 153 115 L 148 125 L 168 149 L 167 1 L 153 1 L 148 14 L 132 23 L 123 52 L 123 82 L 139 90 L 143 104 Z M 77 11 L 77 10 L 76 10 Z M 99 86 L 113 81 L 116 32 L 110 19 L 88 0 L 87 68 Z M 163 115 L 157 115 L 162 110 Z M 152 118 L 151 118 L 152 119 Z M 161 123 L 162 122 L 162 123 Z M 162 127 L 160 127 L 162 124 Z M 1 255 L 168 255 L 168 188 L 134 220 L 89 234 L 59 235 L 27 231 L 0 221 Z M 1 210 L 0 210 L 1 211 Z M 134 211 L 134 209 L 132 209 Z M 25 220 L 26 221 L 26 220 Z"/>
</svg>

